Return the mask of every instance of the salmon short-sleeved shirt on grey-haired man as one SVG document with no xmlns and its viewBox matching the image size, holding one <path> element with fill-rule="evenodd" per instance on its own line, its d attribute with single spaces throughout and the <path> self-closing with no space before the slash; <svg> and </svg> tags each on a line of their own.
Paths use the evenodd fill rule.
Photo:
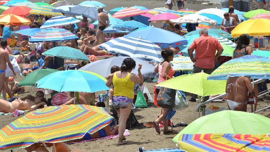
<svg viewBox="0 0 270 152">
<path fill-rule="evenodd" d="M 203 34 L 193 40 L 189 49 L 192 49 L 192 52 L 196 49 L 196 66 L 200 68 L 214 68 L 216 50 L 222 49 L 222 46 L 217 39 L 210 37 L 210 35 Z"/>
</svg>

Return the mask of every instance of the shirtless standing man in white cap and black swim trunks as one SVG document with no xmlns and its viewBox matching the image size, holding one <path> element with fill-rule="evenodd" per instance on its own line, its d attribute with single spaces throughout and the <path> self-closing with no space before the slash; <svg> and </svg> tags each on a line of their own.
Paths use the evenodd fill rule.
<svg viewBox="0 0 270 152">
<path fill-rule="evenodd" d="M 102 31 L 109 26 L 110 20 L 108 14 L 103 12 L 102 6 L 99 6 L 97 10 L 98 10 L 98 29 L 96 33 L 96 45 L 99 45 L 98 40 L 100 36 L 102 36 L 102 43 L 105 41 Z"/>
</svg>

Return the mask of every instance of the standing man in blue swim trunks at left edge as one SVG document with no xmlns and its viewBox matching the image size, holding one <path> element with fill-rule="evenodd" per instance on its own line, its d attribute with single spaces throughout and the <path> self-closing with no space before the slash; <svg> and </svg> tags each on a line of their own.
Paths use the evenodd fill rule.
<svg viewBox="0 0 270 152">
<path fill-rule="evenodd" d="M 13 66 L 10 63 L 9 54 L 5 51 L 7 46 L 7 41 L 1 40 L 0 42 L 0 93 L 2 92 L 2 89 L 4 92 L 6 92 L 6 64 L 10 67 L 10 69 L 13 72 L 13 75 L 16 76 L 16 73 L 14 72 Z M 3 99 L 6 99 L 6 95 L 3 95 Z"/>
</svg>

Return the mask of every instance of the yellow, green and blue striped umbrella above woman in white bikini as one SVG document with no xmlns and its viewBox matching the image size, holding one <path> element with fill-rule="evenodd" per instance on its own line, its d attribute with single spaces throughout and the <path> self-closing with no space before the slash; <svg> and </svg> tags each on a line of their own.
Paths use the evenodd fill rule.
<svg viewBox="0 0 270 152">
<path fill-rule="evenodd" d="M 227 61 L 208 76 L 209 80 L 227 80 L 233 76 L 250 76 L 251 79 L 270 78 L 270 58 L 246 55 Z"/>
</svg>

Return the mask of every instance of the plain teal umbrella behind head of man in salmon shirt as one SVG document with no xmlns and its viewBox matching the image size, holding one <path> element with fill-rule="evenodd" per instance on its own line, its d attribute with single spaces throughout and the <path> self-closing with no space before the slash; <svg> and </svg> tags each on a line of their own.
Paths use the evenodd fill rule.
<svg viewBox="0 0 270 152">
<path fill-rule="evenodd" d="M 195 34 L 199 34 L 200 30 L 196 30 L 196 31 L 191 31 L 187 34 L 185 34 L 183 37 L 188 37 L 190 35 L 195 35 Z M 208 34 L 209 35 L 216 35 L 218 37 L 224 37 L 224 38 L 227 38 L 227 39 L 232 39 L 232 36 L 230 33 L 228 32 L 225 32 L 221 29 L 208 29 Z"/>
</svg>

